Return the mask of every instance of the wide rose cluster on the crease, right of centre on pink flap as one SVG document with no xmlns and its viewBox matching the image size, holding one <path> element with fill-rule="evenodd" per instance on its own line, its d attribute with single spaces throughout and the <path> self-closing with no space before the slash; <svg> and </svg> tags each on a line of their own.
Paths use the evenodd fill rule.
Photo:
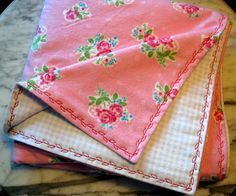
<svg viewBox="0 0 236 196">
<path fill-rule="evenodd" d="M 178 43 L 173 37 L 158 38 L 147 24 L 134 28 L 132 37 L 142 42 L 141 52 L 149 58 L 155 57 L 160 65 L 166 67 L 168 61 L 175 61 Z"/>
</svg>

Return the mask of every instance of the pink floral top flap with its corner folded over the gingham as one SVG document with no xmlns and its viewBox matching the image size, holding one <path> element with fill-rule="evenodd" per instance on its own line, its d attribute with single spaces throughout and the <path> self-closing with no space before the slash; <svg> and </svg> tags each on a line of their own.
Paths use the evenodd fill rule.
<svg viewBox="0 0 236 196">
<path fill-rule="evenodd" d="M 111 2 L 46 0 L 19 84 L 137 162 L 227 19 L 166 0 Z"/>
</svg>

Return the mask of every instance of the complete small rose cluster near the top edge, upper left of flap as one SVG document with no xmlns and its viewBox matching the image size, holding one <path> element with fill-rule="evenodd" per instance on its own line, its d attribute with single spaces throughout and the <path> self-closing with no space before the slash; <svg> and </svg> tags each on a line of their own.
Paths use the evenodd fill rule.
<svg viewBox="0 0 236 196">
<path fill-rule="evenodd" d="M 65 20 L 68 22 L 84 20 L 85 18 L 92 16 L 92 14 L 89 12 L 88 5 L 82 1 L 79 1 L 71 8 L 64 10 L 63 15 Z"/>
</svg>

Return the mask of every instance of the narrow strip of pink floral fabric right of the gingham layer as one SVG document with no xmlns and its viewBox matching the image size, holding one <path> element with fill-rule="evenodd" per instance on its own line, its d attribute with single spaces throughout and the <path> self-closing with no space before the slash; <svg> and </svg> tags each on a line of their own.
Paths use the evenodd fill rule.
<svg viewBox="0 0 236 196">
<path fill-rule="evenodd" d="M 223 112 L 221 69 L 218 69 L 207 138 L 200 169 L 202 180 L 223 180 L 228 171 L 228 131 Z"/>
</svg>

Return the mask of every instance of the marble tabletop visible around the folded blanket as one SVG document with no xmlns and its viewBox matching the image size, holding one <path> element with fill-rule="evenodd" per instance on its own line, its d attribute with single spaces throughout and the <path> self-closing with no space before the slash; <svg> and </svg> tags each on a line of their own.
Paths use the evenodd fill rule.
<svg viewBox="0 0 236 196">
<path fill-rule="evenodd" d="M 0 15 L 0 119 L 22 72 L 43 0 L 15 0 Z M 223 96 L 230 136 L 230 172 L 222 182 L 201 185 L 196 195 L 236 194 L 236 15 L 222 0 L 185 0 L 226 13 L 232 32 L 223 61 Z M 166 195 L 171 191 L 109 175 L 14 165 L 12 141 L 0 130 L 0 185 L 10 195 Z M 1 194 L 1 188 L 0 188 Z"/>
</svg>

